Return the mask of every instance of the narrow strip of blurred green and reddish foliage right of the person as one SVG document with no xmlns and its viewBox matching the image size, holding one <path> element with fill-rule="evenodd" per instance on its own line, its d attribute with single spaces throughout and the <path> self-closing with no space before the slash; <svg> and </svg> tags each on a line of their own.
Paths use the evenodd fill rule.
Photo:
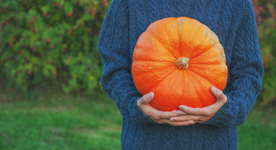
<svg viewBox="0 0 276 150">
<path fill-rule="evenodd" d="M 276 1 L 252 0 L 264 65 L 263 90 L 260 105 L 276 104 Z"/>
</svg>

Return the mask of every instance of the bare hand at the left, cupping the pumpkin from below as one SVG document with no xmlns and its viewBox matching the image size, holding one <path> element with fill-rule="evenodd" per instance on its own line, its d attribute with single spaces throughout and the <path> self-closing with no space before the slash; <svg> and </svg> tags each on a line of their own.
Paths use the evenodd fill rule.
<svg viewBox="0 0 276 150">
<path fill-rule="evenodd" d="M 181 110 L 172 110 L 172 111 L 161 111 L 149 105 L 149 102 L 153 100 L 154 93 L 149 92 L 144 95 L 142 98 L 138 99 L 137 105 L 141 109 L 141 111 L 153 121 L 159 124 L 170 124 L 172 126 L 187 126 L 194 124 L 193 120 L 190 121 L 170 121 L 169 119 L 172 117 L 178 117 L 182 115 L 186 115 Z"/>
</svg>

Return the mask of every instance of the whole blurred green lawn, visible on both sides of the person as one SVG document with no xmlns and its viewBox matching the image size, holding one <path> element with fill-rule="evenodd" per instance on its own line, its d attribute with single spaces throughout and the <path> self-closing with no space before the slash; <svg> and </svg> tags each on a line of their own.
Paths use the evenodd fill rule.
<svg viewBox="0 0 276 150">
<path fill-rule="evenodd" d="M 102 91 L 0 92 L 0 150 L 120 150 L 121 115 Z M 275 150 L 276 110 L 253 107 L 239 150 Z"/>
</svg>

